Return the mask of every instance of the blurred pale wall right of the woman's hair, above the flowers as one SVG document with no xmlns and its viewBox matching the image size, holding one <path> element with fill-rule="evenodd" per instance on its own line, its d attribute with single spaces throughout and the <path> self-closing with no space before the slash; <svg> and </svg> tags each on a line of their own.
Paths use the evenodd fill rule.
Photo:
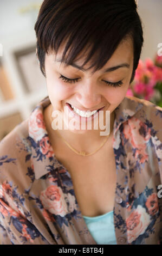
<svg viewBox="0 0 162 256">
<path fill-rule="evenodd" d="M 162 0 L 139 0 L 139 15 L 144 29 L 141 59 L 153 59 L 162 43 Z"/>
</svg>

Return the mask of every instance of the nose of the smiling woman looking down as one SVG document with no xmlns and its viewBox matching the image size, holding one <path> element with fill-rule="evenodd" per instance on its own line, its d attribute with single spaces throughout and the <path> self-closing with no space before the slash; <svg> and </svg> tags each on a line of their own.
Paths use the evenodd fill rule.
<svg viewBox="0 0 162 256">
<path fill-rule="evenodd" d="M 99 107 L 101 102 L 101 93 L 99 88 L 93 82 L 83 84 L 76 94 L 76 100 L 81 106 L 89 109 Z"/>
</svg>

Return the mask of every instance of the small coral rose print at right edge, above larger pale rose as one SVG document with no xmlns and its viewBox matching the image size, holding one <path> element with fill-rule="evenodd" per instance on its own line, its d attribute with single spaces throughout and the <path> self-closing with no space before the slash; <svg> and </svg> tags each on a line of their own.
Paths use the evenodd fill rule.
<svg viewBox="0 0 162 256">
<path fill-rule="evenodd" d="M 153 193 L 147 198 L 146 206 L 150 215 L 157 214 L 159 210 L 157 194 Z"/>
</svg>

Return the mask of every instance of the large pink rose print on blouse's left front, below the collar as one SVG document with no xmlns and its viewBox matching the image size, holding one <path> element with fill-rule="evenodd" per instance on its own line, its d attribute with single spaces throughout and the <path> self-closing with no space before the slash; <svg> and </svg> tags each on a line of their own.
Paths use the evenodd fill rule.
<svg viewBox="0 0 162 256">
<path fill-rule="evenodd" d="M 67 203 L 60 187 L 56 185 L 49 186 L 41 192 L 40 199 L 44 208 L 51 214 L 64 217 L 68 213 Z"/>
</svg>

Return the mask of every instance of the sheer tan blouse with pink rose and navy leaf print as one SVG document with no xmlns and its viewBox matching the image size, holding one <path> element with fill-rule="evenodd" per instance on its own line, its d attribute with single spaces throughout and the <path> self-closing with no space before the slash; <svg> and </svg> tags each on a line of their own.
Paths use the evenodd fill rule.
<svg viewBox="0 0 162 256">
<path fill-rule="evenodd" d="M 51 147 L 44 98 L 0 143 L 0 244 L 96 245 Z M 162 108 L 125 96 L 114 110 L 118 245 L 162 244 Z M 161 191 L 160 191 L 161 189 Z"/>
</svg>

